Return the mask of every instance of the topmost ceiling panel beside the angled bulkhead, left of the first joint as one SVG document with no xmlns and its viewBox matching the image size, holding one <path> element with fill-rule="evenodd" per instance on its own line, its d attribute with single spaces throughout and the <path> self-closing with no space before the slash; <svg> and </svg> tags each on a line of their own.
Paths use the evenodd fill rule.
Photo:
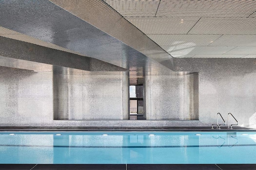
<svg viewBox="0 0 256 170">
<path fill-rule="evenodd" d="M 154 17 L 160 0 L 104 0 L 124 17 Z"/>
</svg>

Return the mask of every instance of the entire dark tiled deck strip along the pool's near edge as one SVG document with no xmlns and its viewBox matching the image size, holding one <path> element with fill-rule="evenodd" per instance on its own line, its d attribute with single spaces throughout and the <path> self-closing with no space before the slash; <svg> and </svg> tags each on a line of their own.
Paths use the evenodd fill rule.
<svg viewBox="0 0 256 170">
<path fill-rule="evenodd" d="M 256 164 L 0 164 L 1 170 L 255 170 Z"/>
</svg>

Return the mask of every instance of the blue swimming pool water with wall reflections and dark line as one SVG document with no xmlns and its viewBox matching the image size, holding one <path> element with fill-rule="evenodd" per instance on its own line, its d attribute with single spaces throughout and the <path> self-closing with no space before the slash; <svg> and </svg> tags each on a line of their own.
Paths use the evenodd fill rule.
<svg viewBox="0 0 256 170">
<path fill-rule="evenodd" d="M 256 132 L 0 132 L 0 164 L 256 164 Z"/>
</svg>

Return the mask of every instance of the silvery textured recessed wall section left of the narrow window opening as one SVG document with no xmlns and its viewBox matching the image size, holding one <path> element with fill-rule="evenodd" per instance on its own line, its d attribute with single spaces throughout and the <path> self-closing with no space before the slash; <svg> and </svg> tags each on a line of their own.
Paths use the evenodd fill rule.
<svg viewBox="0 0 256 170">
<path fill-rule="evenodd" d="M 126 120 L 127 84 L 127 72 L 54 69 L 54 120 Z"/>
</svg>

